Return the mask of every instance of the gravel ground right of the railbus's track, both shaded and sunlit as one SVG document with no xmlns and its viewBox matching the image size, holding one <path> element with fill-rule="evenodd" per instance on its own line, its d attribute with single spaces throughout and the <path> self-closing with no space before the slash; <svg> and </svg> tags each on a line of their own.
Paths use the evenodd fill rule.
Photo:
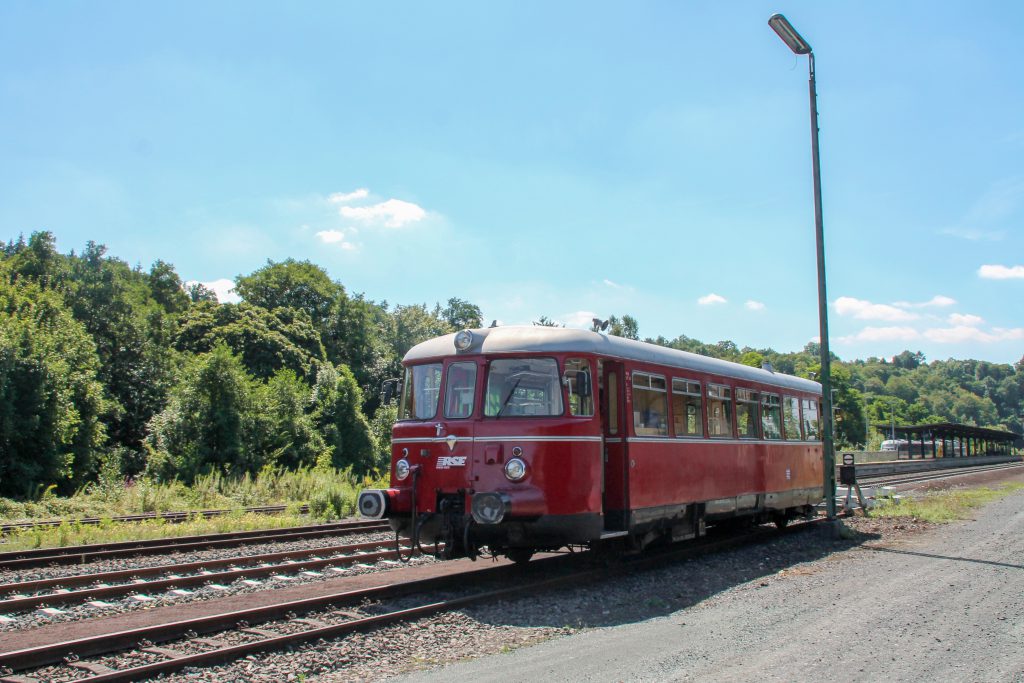
<svg viewBox="0 0 1024 683">
<path fill-rule="evenodd" d="M 764 544 L 173 681 L 1024 681 L 1024 492 Z"/>
</svg>

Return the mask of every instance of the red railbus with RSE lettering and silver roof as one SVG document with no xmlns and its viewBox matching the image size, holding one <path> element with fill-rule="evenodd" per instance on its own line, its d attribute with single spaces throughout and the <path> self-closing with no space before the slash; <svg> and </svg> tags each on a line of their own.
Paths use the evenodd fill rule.
<svg viewBox="0 0 1024 683">
<path fill-rule="evenodd" d="M 359 495 L 444 557 L 633 547 L 822 499 L 821 387 L 582 330 L 463 330 L 409 351 L 391 485 Z"/>
</svg>

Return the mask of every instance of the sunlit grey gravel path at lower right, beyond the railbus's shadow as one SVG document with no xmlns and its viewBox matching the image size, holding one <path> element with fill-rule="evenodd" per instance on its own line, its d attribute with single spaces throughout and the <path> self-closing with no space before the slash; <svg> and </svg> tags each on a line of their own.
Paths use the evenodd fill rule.
<svg viewBox="0 0 1024 683">
<path fill-rule="evenodd" d="M 859 524 L 885 532 L 884 522 Z M 1020 683 L 1022 558 L 1024 492 L 1018 492 L 972 521 L 897 542 L 867 540 L 818 561 L 736 582 L 656 618 L 587 630 L 403 680 Z M 698 575 L 665 579 L 685 590 Z M 664 589 L 650 588 L 634 599 L 665 599 Z"/>
</svg>

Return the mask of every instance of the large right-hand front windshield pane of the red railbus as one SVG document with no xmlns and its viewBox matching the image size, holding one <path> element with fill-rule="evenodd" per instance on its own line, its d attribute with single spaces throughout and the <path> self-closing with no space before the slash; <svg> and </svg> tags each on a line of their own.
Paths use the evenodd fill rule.
<svg viewBox="0 0 1024 683">
<path fill-rule="evenodd" d="M 484 397 L 485 417 L 561 414 L 561 381 L 554 358 L 499 358 L 490 361 Z"/>
</svg>

